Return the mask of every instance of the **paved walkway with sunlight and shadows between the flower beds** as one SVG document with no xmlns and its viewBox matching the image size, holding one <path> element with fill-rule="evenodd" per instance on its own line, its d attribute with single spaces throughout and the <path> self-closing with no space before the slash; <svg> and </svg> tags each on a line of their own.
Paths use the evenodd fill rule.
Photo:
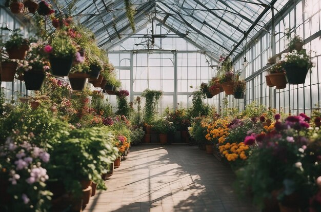
<svg viewBox="0 0 321 212">
<path fill-rule="evenodd" d="M 85 212 L 257 212 L 232 190 L 234 176 L 213 155 L 187 145 L 132 147 Z"/>
</svg>

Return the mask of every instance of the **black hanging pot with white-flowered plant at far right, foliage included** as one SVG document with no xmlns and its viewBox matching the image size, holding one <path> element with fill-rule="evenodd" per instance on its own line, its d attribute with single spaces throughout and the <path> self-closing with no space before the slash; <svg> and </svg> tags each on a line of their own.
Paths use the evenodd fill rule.
<svg viewBox="0 0 321 212">
<path fill-rule="evenodd" d="M 305 49 L 299 52 L 293 50 L 292 52 L 282 54 L 282 67 L 285 70 L 289 84 L 298 85 L 306 80 L 308 70 L 313 67 L 311 57 L 306 53 Z"/>
</svg>

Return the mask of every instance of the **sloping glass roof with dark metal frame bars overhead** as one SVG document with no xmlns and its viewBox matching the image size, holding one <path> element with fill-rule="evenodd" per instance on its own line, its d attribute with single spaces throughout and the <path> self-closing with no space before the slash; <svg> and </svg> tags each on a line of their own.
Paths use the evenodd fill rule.
<svg viewBox="0 0 321 212">
<path fill-rule="evenodd" d="M 75 1 L 75 0 L 73 0 Z M 68 13 L 72 0 L 50 0 L 55 8 Z M 55 4 L 55 3 L 56 4 Z M 288 0 L 131 0 L 135 8 L 136 32 L 157 20 L 180 34 L 200 50 L 217 56 L 229 54 L 245 38 L 248 40 L 265 29 L 271 20 L 269 5 L 279 11 Z M 265 11 L 265 14 L 261 15 Z M 76 0 L 72 16 L 91 29 L 99 47 L 109 49 L 133 35 L 124 0 Z M 262 16 L 259 20 L 257 18 Z M 257 23 L 257 24 L 255 24 Z M 253 25 L 253 27 L 252 27 Z M 249 30 L 252 28 L 252 30 Z M 235 54 L 243 52 L 240 44 Z"/>
</svg>

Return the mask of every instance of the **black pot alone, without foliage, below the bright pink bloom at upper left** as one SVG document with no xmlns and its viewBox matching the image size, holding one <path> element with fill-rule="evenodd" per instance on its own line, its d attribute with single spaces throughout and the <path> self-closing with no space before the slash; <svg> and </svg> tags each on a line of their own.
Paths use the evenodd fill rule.
<svg viewBox="0 0 321 212">
<path fill-rule="evenodd" d="M 55 76 L 68 76 L 73 58 L 72 57 L 53 57 L 49 58 L 51 65 L 51 72 Z"/>
</svg>

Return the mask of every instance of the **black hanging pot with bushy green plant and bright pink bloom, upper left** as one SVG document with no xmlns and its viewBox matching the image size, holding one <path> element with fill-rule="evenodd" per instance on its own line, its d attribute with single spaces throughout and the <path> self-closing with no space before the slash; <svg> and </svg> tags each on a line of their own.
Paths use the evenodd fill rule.
<svg viewBox="0 0 321 212">
<path fill-rule="evenodd" d="M 44 50 L 49 54 L 52 74 L 56 76 L 68 76 L 77 49 L 67 32 L 60 30 L 53 37 L 51 44 L 45 46 Z"/>
</svg>

